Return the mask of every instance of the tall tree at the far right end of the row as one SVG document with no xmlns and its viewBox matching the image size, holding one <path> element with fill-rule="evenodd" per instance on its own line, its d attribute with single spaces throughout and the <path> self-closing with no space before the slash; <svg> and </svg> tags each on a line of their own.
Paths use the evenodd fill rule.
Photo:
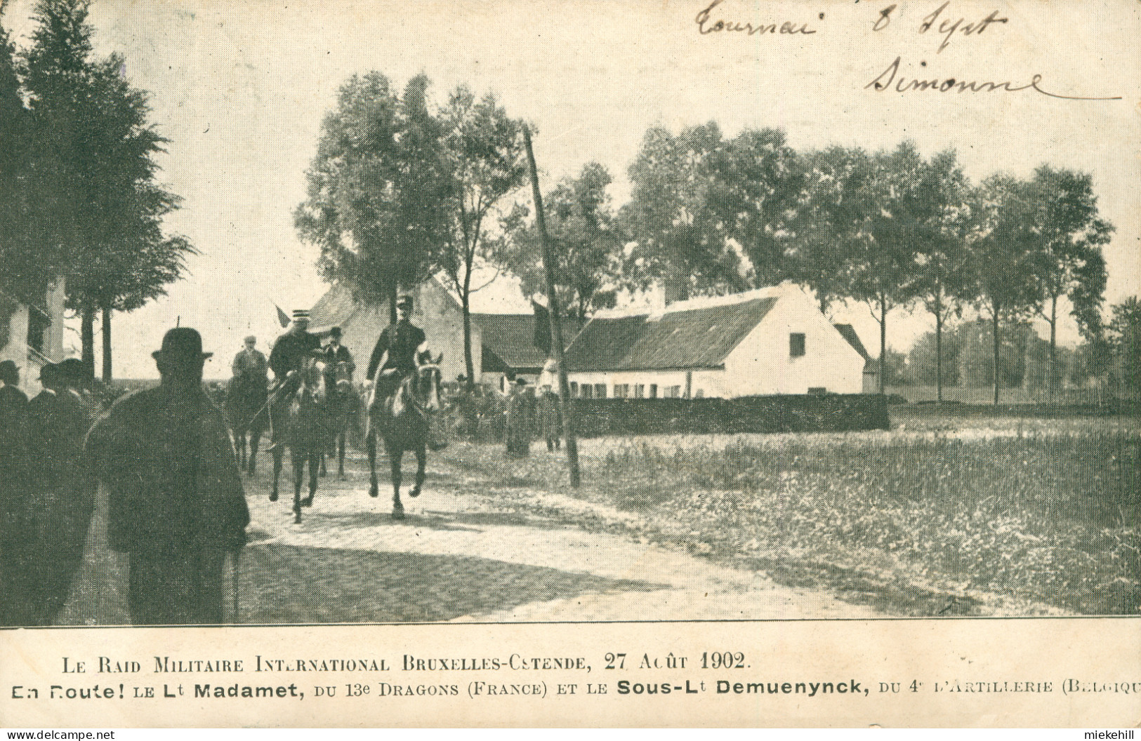
<svg viewBox="0 0 1141 741">
<path fill-rule="evenodd" d="M 1046 389 L 1058 385 L 1058 301 L 1069 300 L 1078 328 L 1087 339 L 1101 320 L 1106 260 L 1114 226 L 1098 217 L 1093 178 L 1087 173 L 1041 165 L 1030 181 L 1035 272 L 1041 301 L 1035 308 L 1050 325 Z"/>
</svg>

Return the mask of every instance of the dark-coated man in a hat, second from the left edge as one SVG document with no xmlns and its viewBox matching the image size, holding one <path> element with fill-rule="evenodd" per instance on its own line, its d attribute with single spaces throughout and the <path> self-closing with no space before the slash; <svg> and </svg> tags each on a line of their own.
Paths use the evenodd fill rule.
<svg viewBox="0 0 1141 741">
<path fill-rule="evenodd" d="M 34 625 L 51 625 L 66 603 L 95 507 L 95 488 L 83 464 L 83 437 L 92 420 L 73 388 L 81 383 L 76 365 L 82 373 L 80 361 L 43 366 L 43 391 L 27 404 L 29 502 L 35 532 L 31 564 L 35 596 L 30 617 Z"/>
</svg>

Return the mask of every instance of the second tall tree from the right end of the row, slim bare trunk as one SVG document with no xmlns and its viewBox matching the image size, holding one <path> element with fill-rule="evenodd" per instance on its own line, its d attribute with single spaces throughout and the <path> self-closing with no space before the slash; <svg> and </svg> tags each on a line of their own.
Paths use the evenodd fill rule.
<svg viewBox="0 0 1141 741">
<path fill-rule="evenodd" d="M 972 194 L 968 235 L 974 303 L 990 320 L 994 404 L 998 404 L 1002 324 L 1025 318 L 1038 300 L 1034 254 L 1034 192 L 1009 176 L 987 178 Z"/>
</svg>

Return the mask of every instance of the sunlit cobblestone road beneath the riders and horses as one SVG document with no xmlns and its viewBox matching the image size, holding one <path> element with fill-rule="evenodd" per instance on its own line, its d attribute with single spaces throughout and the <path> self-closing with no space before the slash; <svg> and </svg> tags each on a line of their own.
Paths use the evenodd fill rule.
<svg viewBox="0 0 1141 741">
<path fill-rule="evenodd" d="M 367 496 L 364 461 L 348 481 L 321 480 L 294 524 L 289 464 L 282 497 L 268 500 L 268 466 L 248 480 L 251 543 L 238 567 L 237 620 L 359 621 L 691 620 L 875 617 L 824 592 L 774 584 L 678 549 L 575 524 L 628 513 L 548 492 L 512 490 L 446 464 L 429 465 L 424 494 L 390 516 L 387 464 L 381 496 Z M 405 471 L 411 467 L 405 462 Z M 406 479 L 411 477 L 406 473 Z M 126 563 L 106 548 L 105 502 L 64 625 L 129 622 Z M 543 513 L 543 514 L 537 514 Z M 555 514 L 551 514 L 555 513 Z"/>
</svg>

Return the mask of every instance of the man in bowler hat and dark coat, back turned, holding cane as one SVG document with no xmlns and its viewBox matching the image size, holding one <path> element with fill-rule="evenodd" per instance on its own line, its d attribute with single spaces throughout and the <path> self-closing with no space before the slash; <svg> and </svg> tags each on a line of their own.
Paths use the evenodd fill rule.
<svg viewBox="0 0 1141 741">
<path fill-rule="evenodd" d="M 107 538 L 130 555 L 136 625 L 221 622 L 222 567 L 250 522 L 226 421 L 202 390 L 202 337 L 170 329 L 154 352 L 162 382 L 123 397 L 87 453 L 107 486 Z"/>
</svg>

